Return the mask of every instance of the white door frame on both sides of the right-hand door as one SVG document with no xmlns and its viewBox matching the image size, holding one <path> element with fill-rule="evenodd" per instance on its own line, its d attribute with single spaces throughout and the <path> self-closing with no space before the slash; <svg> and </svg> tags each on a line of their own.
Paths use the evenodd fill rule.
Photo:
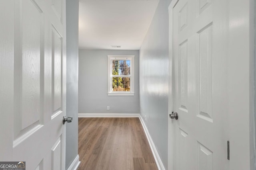
<svg viewBox="0 0 256 170">
<path fill-rule="evenodd" d="M 168 170 L 174 170 L 174 130 L 169 113 L 173 111 L 172 76 L 173 8 L 169 11 L 169 100 L 168 100 Z M 255 169 L 254 126 L 254 0 L 229 0 L 228 116 L 230 170 Z M 241 83 L 243 82 L 243 83 Z M 241 143 L 241 139 L 243 143 Z M 236 150 L 234 150 L 236 149 Z M 243 163 L 241 163 L 243 162 Z"/>
</svg>

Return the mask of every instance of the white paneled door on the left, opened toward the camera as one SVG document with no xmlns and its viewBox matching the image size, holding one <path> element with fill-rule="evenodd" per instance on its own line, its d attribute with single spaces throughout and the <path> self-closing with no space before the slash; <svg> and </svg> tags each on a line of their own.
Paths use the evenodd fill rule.
<svg viewBox="0 0 256 170">
<path fill-rule="evenodd" d="M 0 1 L 0 161 L 64 170 L 65 0 Z"/>
</svg>

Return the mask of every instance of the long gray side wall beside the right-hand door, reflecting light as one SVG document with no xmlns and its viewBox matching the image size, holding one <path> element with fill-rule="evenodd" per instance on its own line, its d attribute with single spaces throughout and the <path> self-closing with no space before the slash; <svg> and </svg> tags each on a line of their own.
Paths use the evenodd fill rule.
<svg viewBox="0 0 256 170">
<path fill-rule="evenodd" d="M 140 48 L 140 114 L 168 166 L 168 6 L 161 1 Z"/>
</svg>

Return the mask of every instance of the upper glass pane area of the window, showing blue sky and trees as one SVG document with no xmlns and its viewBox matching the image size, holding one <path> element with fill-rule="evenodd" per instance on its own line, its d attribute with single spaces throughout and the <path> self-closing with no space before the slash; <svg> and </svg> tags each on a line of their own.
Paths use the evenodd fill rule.
<svg viewBox="0 0 256 170">
<path fill-rule="evenodd" d="M 130 60 L 112 60 L 112 75 L 130 76 Z"/>
</svg>

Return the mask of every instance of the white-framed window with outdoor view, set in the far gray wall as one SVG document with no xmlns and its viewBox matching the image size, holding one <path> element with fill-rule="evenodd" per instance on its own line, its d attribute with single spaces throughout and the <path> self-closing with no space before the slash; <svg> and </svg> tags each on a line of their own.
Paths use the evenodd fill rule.
<svg viewBox="0 0 256 170">
<path fill-rule="evenodd" d="M 108 55 L 108 96 L 134 96 L 134 55 Z"/>
</svg>

